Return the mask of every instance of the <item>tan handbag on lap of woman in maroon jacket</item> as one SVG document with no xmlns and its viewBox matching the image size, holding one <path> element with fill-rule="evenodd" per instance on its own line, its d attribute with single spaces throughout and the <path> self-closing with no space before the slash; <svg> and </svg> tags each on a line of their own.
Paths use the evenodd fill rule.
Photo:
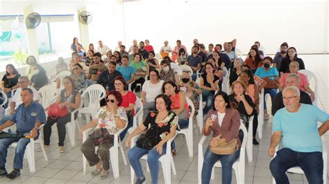
<svg viewBox="0 0 329 184">
<path fill-rule="evenodd" d="M 221 135 L 215 138 L 220 139 Z M 212 151 L 213 154 L 218 154 L 218 155 L 234 154 L 234 152 L 237 151 L 238 149 L 239 149 L 239 144 L 237 144 L 236 138 L 230 140 L 230 142 L 223 142 L 221 143 L 221 145 L 218 145 L 217 147 L 210 147 L 210 151 Z"/>
</svg>

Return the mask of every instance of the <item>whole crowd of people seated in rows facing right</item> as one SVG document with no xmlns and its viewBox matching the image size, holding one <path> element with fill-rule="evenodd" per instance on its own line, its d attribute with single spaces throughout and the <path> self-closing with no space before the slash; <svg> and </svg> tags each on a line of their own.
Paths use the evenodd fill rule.
<svg viewBox="0 0 329 184">
<path fill-rule="evenodd" d="M 246 129 L 253 116 L 253 145 L 259 145 L 256 139 L 260 108 L 264 108 L 264 120 L 269 120 L 267 110 L 273 115 L 273 135 L 269 145 L 269 156 L 273 156 L 276 147 L 282 142 L 276 157 L 269 168 L 276 183 L 289 183 L 287 169 L 299 166 L 305 172 L 310 183 L 323 183 L 323 160 L 321 138 L 329 124 L 329 114 L 312 105 L 317 98 L 310 88 L 307 76 L 298 72 L 305 69 L 303 59 L 297 57 L 296 48 L 282 43 L 275 57 L 264 55 L 260 42 L 255 42 L 248 50 L 244 61 L 235 53 L 237 40 L 223 44 L 204 44 L 194 39 L 191 50 L 177 40 L 174 49 L 165 41 L 160 49 L 161 60 L 155 57 L 149 40 L 133 45 L 126 51 L 121 41 L 115 50 L 99 41 L 97 49 L 90 44 L 85 50 L 74 38 L 71 44 L 71 61 L 65 63 L 62 57 L 56 64 L 56 77 L 50 79 L 35 57 L 28 56 L 26 75 L 18 73 L 15 66 L 8 64 L 6 74 L 1 81 L 1 95 L 7 95 L 10 102 L 3 104 L 6 113 L 1 117 L 0 131 L 16 125 L 16 137 L 0 138 L 0 175 L 16 178 L 22 169 L 24 151 L 31 138 L 39 136 L 43 127 L 44 148 L 51 146 L 52 125 L 56 123 L 58 131 L 58 150 L 65 152 L 64 142 L 66 126 L 71 117 L 77 119 L 76 109 L 86 105 L 81 94 L 92 84 L 100 84 L 106 91 L 101 100 L 100 109 L 92 120 L 79 131 L 93 128 L 91 134 L 81 145 L 81 151 L 91 167 L 95 166 L 92 176 L 107 178 L 110 169 L 110 148 L 114 145 L 115 134 L 119 142 L 126 138 L 128 160 L 133 167 L 137 180 L 144 183 L 146 178 L 140 158 L 148 154 L 147 163 L 151 171 L 151 182 L 158 183 L 159 158 L 171 151 L 176 155 L 176 131 L 193 126 L 190 116 L 203 114 L 202 134 L 212 138 L 204 154 L 201 171 L 202 183 L 210 183 L 212 167 L 221 160 L 223 167 L 222 183 L 231 183 L 233 163 L 239 158 L 244 136 L 239 131 L 240 122 Z M 190 52 L 189 52 L 190 51 Z M 191 55 L 189 55 L 191 53 Z M 189 67 L 188 67 L 189 66 Z M 183 69 L 180 68 L 188 68 Z M 63 71 L 71 73 L 60 79 Z M 67 109 L 65 116 L 46 116 L 50 107 L 39 104 L 38 90 L 56 82 L 58 97 L 53 102 L 59 109 Z M 229 89 L 223 90 L 228 83 Z M 140 91 L 140 98 L 137 95 Z M 264 91 L 264 97 L 260 95 Z M 271 107 L 267 106 L 267 94 L 271 97 Z M 202 102 L 201 99 L 202 98 Z M 260 101 L 264 104 L 260 107 Z M 191 100 L 195 113 L 190 113 L 187 103 Z M 142 122 L 134 126 L 137 104 L 142 103 Z M 200 109 L 199 104 L 202 104 Z M 95 107 L 96 108 L 96 107 Z M 1 116 L 1 115 L 0 115 Z M 136 117 L 135 117 L 136 118 Z M 317 127 L 317 122 L 323 122 Z M 289 123 L 288 123 L 289 122 Z M 294 130 L 294 131 L 292 131 Z M 8 130 L 10 133 L 10 129 Z M 128 133 L 128 136 L 126 134 Z M 14 134 L 11 132 L 11 134 Z M 134 136 L 143 134 L 132 144 Z M 167 150 L 167 142 L 171 150 Z M 230 154 L 218 154 L 214 147 L 236 141 L 235 150 Z M 9 145 L 17 142 L 13 170 L 6 171 L 6 157 Z M 146 142 L 146 143 L 145 143 Z M 96 151 L 96 152 L 95 152 Z M 203 154 L 203 153 L 199 153 Z M 301 158 L 301 159 L 298 159 Z M 324 163 L 326 164 L 326 163 Z M 326 173 L 324 173 L 326 174 Z"/>
</svg>

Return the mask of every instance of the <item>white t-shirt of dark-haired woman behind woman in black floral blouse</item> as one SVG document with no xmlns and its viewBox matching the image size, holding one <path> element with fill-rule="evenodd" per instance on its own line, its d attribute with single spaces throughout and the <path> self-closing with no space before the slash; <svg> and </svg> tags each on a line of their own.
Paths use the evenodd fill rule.
<svg viewBox="0 0 329 184">
<path fill-rule="evenodd" d="M 158 84 L 152 84 L 151 80 L 146 80 L 144 82 L 142 91 L 144 91 L 146 93 L 146 96 L 145 96 L 146 103 L 154 102 L 155 97 L 162 93 L 161 87 L 162 87 L 163 82 L 165 82 L 165 81 L 160 80 L 160 82 L 158 82 Z"/>
</svg>

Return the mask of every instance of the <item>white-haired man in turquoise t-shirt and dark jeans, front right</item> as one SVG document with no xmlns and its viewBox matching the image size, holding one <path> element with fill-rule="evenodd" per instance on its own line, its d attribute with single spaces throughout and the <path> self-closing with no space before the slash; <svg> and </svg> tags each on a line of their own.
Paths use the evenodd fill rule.
<svg viewBox="0 0 329 184">
<path fill-rule="evenodd" d="M 289 183 L 287 170 L 298 166 L 303 169 L 308 183 L 323 183 L 320 136 L 327 131 L 329 114 L 314 105 L 299 103 L 301 94 L 296 86 L 283 89 L 282 98 L 285 108 L 278 110 L 273 118 L 269 156 L 274 155 L 280 142 L 282 149 L 271 160 L 271 174 L 276 183 Z M 318 122 L 323 122 L 319 129 Z"/>
</svg>

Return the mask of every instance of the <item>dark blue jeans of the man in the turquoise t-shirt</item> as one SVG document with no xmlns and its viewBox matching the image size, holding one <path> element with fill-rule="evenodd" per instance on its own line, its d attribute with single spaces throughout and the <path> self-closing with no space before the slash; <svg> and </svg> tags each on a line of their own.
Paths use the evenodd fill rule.
<svg viewBox="0 0 329 184">
<path fill-rule="evenodd" d="M 296 166 L 303 169 L 308 183 L 323 183 L 323 158 L 319 151 L 298 152 L 289 148 L 282 148 L 276 152 L 276 157 L 271 160 L 269 169 L 276 183 L 285 184 L 289 183 L 285 172 Z"/>
</svg>

